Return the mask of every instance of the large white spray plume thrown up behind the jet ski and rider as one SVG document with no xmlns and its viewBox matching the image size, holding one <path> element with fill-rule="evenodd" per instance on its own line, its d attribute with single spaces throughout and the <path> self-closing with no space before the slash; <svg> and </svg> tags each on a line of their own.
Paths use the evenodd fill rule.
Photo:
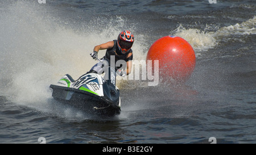
<svg viewBox="0 0 256 155">
<path fill-rule="evenodd" d="M 65 74 L 77 79 L 89 71 L 97 63 L 89 55 L 94 46 L 116 39 L 126 23 L 117 16 L 104 26 L 97 23 L 104 19 L 93 19 L 74 29 L 60 24 L 61 19 L 49 13 L 51 8 L 39 3 L 15 1 L 5 5 L 0 15 L 1 95 L 4 92 L 13 102 L 40 110 L 47 110 L 49 85 Z M 136 35 L 133 27 L 130 30 Z M 141 38 L 138 35 L 133 47 L 138 53 L 135 59 L 144 57 Z M 104 55 L 102 50 L 99 57 Z"/>
</svg>

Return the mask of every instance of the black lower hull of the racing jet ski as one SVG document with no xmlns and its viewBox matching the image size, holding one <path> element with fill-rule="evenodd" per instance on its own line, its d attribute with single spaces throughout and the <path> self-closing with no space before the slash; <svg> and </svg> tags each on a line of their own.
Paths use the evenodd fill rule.
<svg viewBox="0 0 256 155">
<path fill-rule="evenodd" d="M 117 102 L 113 102 L 108 97 L 97 96 L 96 94 L 82 91 L 80 89 L 62 87 L 60 85 L 50 85 L 52 97 L 55 100 L 69 104 L 77 109 L 89 114 L 113 117 L 121 113 L 120 97 Z M 119 90 L 118 94 L 119 95 Z"/>
</svg>

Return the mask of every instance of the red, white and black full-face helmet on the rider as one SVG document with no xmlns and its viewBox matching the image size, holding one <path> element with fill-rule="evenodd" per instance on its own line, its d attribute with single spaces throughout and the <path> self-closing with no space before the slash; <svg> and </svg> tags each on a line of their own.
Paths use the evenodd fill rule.
<svg viewBox="0 0 256 155">
<path fill-rule="evenodd" d="M 133 46 L 134 36 L 130 31 L 122 31 L 117 37 L 118 48 L 123 54 L 127 53 Z"/>
</svg>

